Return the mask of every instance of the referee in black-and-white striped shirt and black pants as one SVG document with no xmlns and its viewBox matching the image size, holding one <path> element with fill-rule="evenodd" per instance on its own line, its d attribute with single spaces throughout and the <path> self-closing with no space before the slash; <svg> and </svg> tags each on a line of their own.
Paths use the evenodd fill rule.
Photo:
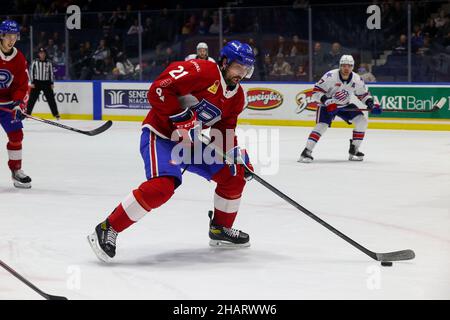
<svg viewBox="0 0 450 320">
<path fill-rule="evenodd" d="M 31 91 L 27 113 L 31 115 L 39 94 L 43 91 L 53 116 L 59 120 L 60 116 L 53 92 L 53 66 L 47 59 L 47 52 L 44 48 L 39 49 L 38 55 L 39 58 L 33 61 L 30 69 Z"/>
</svg>

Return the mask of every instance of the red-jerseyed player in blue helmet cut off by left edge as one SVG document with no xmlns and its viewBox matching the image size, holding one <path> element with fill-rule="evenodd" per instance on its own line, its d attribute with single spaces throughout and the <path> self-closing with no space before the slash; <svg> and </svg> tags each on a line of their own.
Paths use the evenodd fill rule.
<svg viewBox="0 0 450 320">
<path fill-rule="evenodd" d="M 23 54 L 14 45 L 20 38 L 17 22 L 0 24 L 0 124 L 8 135 L 8 167 L 14 186 L 31 188 L 31 178 L 22 171 L 23 111 L 28 101 L 28 70 Z"/>
</svg>

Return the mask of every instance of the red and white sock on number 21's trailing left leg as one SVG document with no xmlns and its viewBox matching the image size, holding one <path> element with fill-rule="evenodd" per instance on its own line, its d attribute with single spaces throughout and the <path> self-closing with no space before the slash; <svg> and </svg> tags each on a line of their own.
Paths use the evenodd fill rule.
<svg viewBox="0 0 450 320">
<path fill-rule="evenodd" d="M 166 203 L 173 195 L 175 182 L 172 177 L 158 177 L 144 182 L 133 190 L 108 217 L 117 232 L 122 232 L 142 219 L 150 210 Z"/>
</svg>

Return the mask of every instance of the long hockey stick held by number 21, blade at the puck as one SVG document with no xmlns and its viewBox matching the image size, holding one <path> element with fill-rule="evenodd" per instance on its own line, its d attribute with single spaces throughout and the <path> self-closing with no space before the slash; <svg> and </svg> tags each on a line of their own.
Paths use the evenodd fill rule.
<svg viewBox="0 0 450 320">
<path fill-rule="evenodd" d="M 210 144 L 211 143 L 211 139 L 209 137 L 203 135 L 203 134 L 200 136 L 200 139 L 205 144 Z M 226 159 L 230 163 L 233 163 L 233 160 L 230 159 L 229 157 L 227 157 L 227 155 L 225 155 L 221 150 L 216 148 L 215 151 L 217 152 L 217 154 L 220 157 L 223 157 L 223 159 Z M 334 228 L 330 224 L 328 224 L 325 221 L 323 221 L 322 219 L 320 219 L 318 216 L 313 214 L 308 209 L 302 207 L 299 203 L 297 203 L 296 201 L 294 201 L 293 199 L 291 199 L 290 197 L 285 195 L 283 192 L 281 192 L 280 190 L 278 190 L 277 188 L 272 186 L 270 183 L 268 183 L 263 178 L 261 178 L 256 173 L 254 173 L 252 170 L 250 170 L 245 163 L 241 162 L 241 164 L 244 165 L 244 168 L 245 168 L 246 172 L 251 174 L 253 176 L 253 179 L 255 179 L 256 181 L 261 183 L 264 187 L 266 187 L 267 189 L 269 189 L 270 191 L 275 193 L 277 196 L 279 196 L 280 198 L 282 198 L 283 200 L 285 200 L 286 202 L 288 202 L 289 204 L 291 204 L 292 206 L 294 206 L 295 208 L 297 208 L 298 210 L 300 210 L 301 212 L 306 214 L 311 219 L 313 219 L 316 222 L 320 223 L 322 226 L 324 226 L 325 228 L 327 228 L 328 230 L 330 230 L 331 232 L 336 234 L 338 237 L 344 239 L 345 241 L 350 243 L 355 248 L 357 248 L 360 251 L 364 252 L 365 254 L 367 254 L 372 259 L 374 259 L 376 261 L 381 261 L 381 262 L 401 261 L 401 260 L 414 259 L 415 253 L 414 253 L 414 251 L 409 250 L 409 249 L 408 250 L 401 250 L 401 251 L 394 251 L 394 252 L 387 252 L 387 253 L 377 253 L 377 252 L 370 251 L 369 249 L 365 248 L 364 246 L 360 245 L 359 243 L 357 243 L 353 239 L 349 238 L 348 236 L 346 236 L 345 234 L 343 234 L 342 232 L 340 232 L 339 230 L 337 230 L 336 228 Z"/>
</svg>

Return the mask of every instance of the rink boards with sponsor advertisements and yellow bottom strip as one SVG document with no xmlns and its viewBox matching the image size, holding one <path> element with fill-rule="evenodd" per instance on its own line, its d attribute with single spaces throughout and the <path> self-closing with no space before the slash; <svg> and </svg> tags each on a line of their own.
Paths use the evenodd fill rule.
<svg viewBox="0 0 450 320">
<path fill-rule="evenodd" d="M 149 105 L 150 82 L 62 81 L 55 83 L 63 118 L 142 121 Z M 247 82 L 243 84 L 248 106 L 239 122 L 250 125 L 313 126 L 317 105 L 312 101 L 313 83 Z M 369 128 L 450 130 L 450 84 L 369 84 L 376 102 L 386 109 L 429 110 L 437 101 L 445 103 L 435 113 L 384 112 L 368 115 Z M 40 97 L 36 115 L 51 117 Z M 62 101 L 62 102 L 60 102 Z M 364 107 L 355 97 L 353 102 Z M 336 119 L 333 127 L 348 125 Z"/>
</svg>

